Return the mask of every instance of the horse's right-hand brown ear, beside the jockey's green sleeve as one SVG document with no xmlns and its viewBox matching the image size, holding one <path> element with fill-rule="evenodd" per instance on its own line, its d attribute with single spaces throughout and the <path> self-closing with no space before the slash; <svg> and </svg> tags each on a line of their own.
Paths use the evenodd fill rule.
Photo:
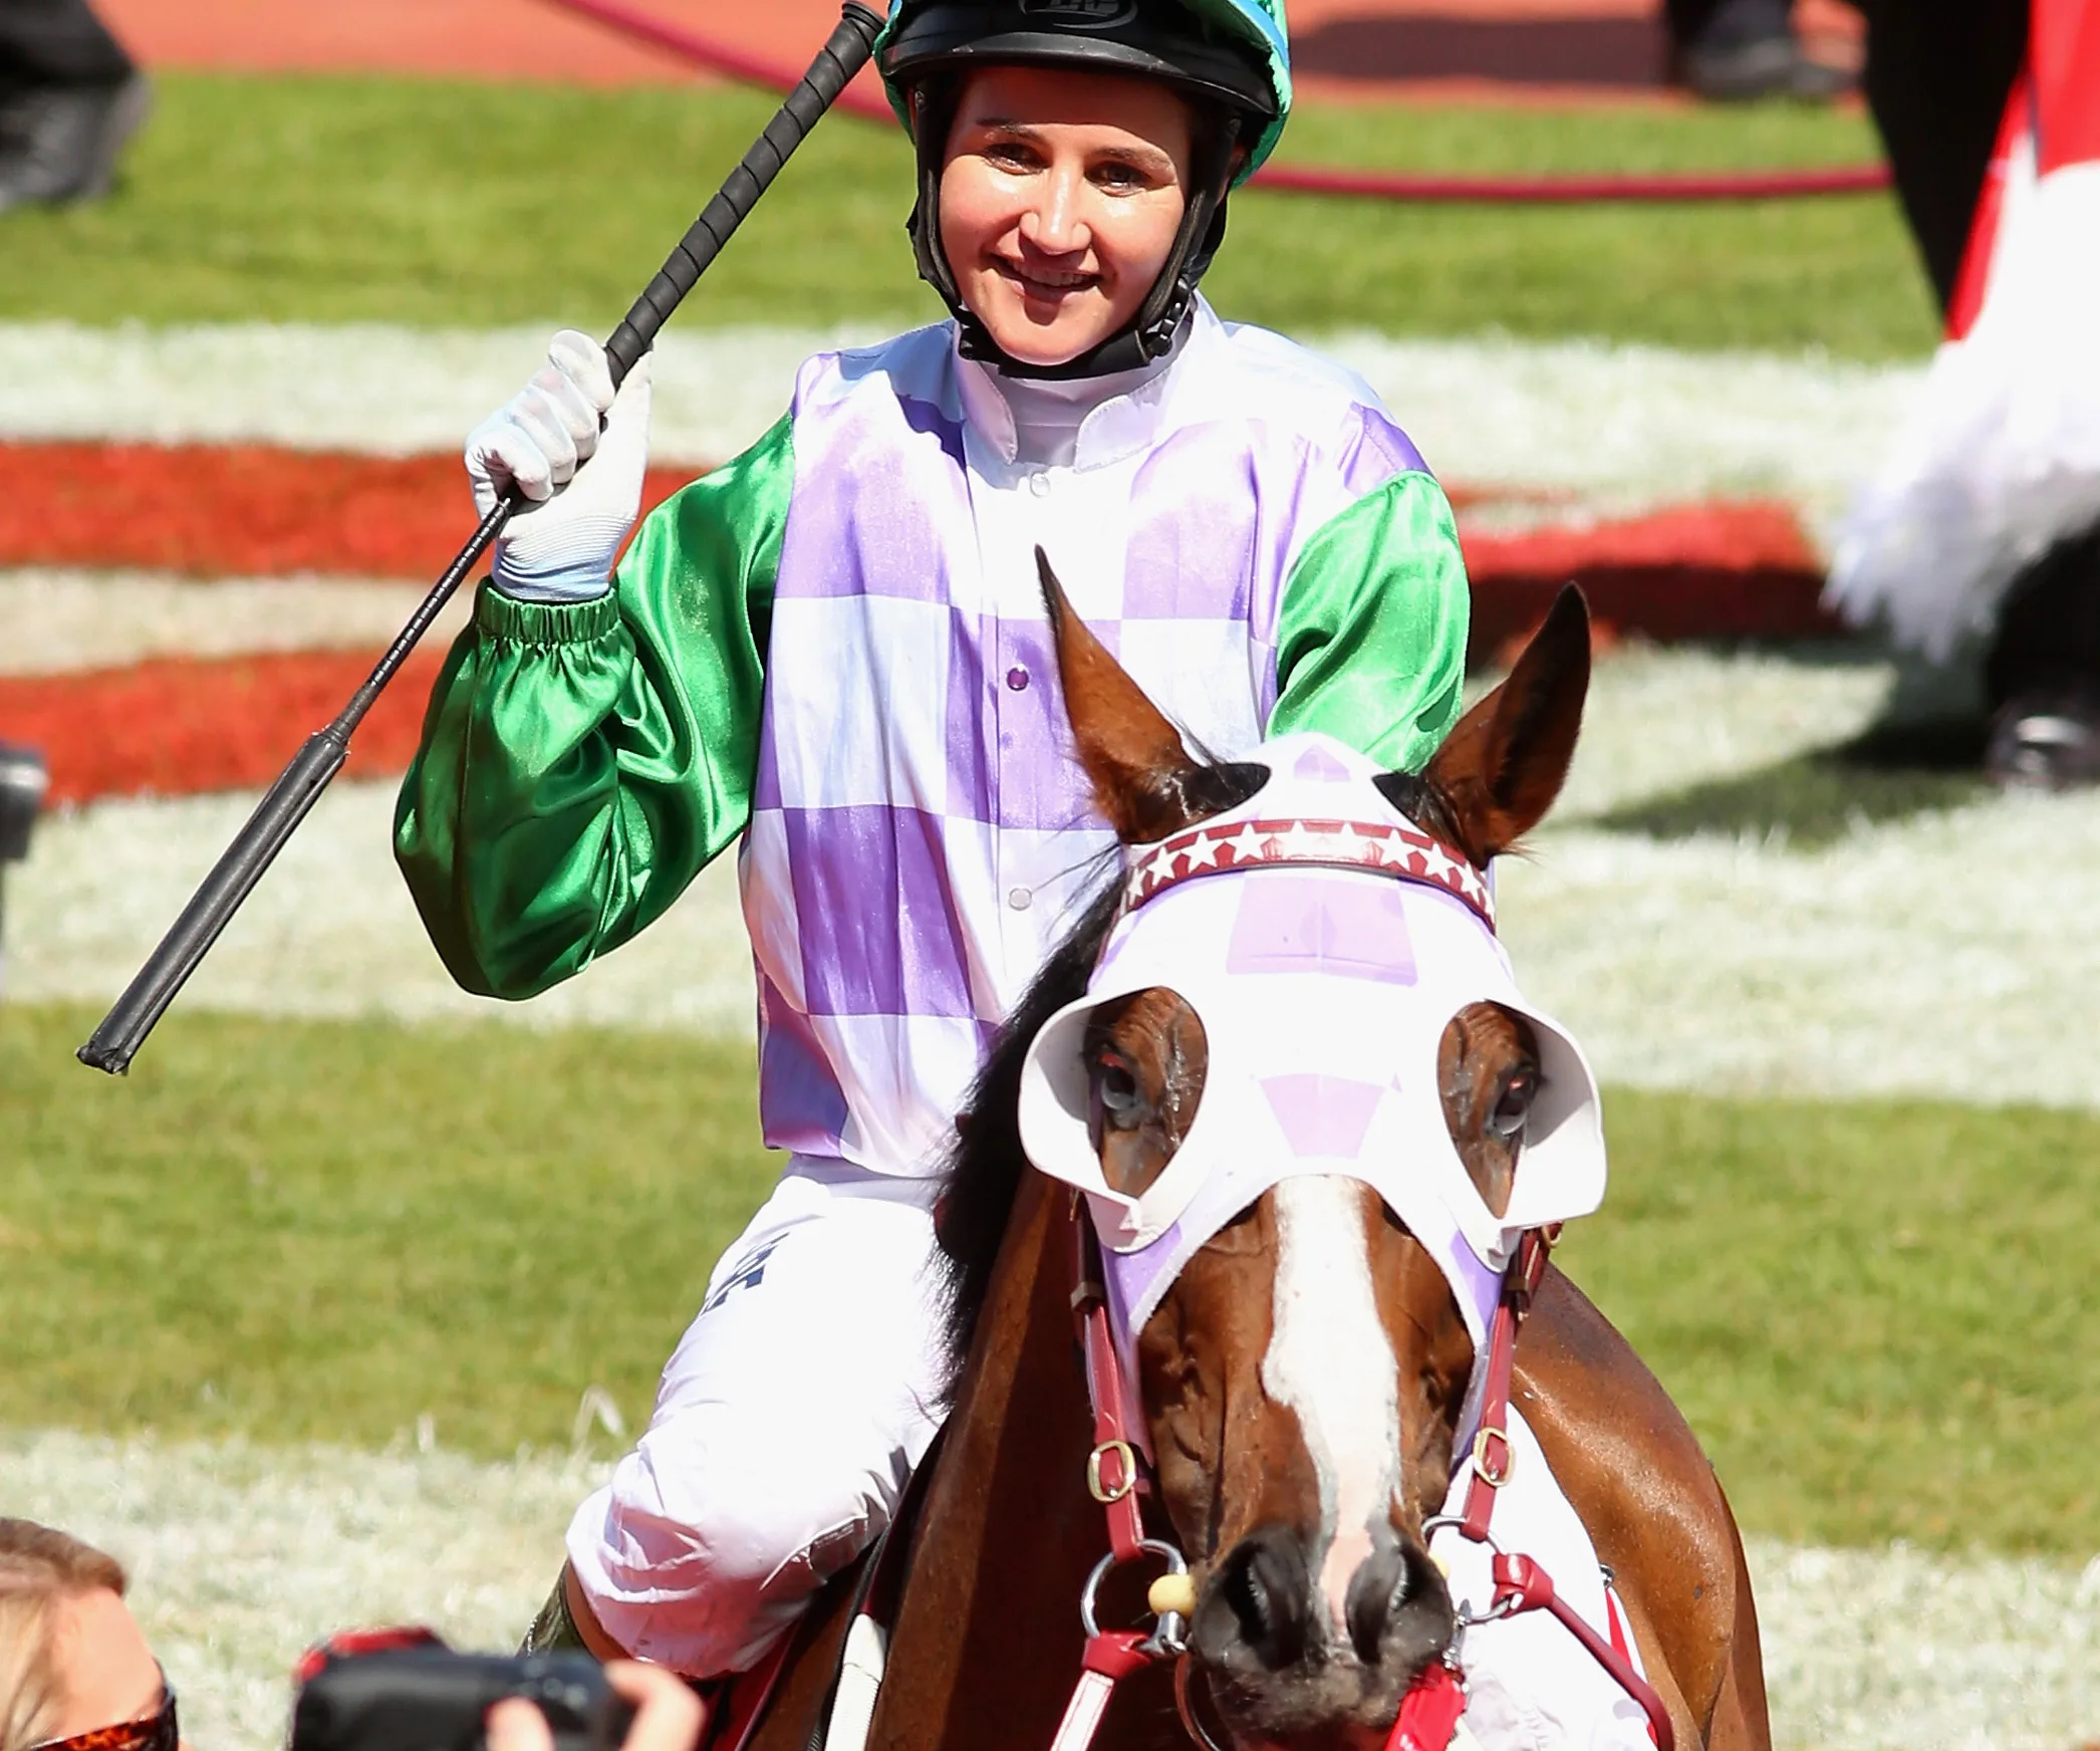
<svg viewBox="0 0 2100 1751">
<path fill-rule="evenodd" d="M 1510 678 L 1474 705 L 1422 773 L 1476 867 L 1529 834 L 1560 796 L 1590 693 L 1590 605 L 1569 584 Z"/>
</svg>

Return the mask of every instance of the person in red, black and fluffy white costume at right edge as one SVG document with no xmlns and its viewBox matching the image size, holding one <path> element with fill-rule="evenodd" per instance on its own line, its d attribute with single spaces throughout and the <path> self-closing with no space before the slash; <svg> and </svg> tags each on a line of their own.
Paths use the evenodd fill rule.
<svg viewBox="0 0 2100 1751">
<path fill-rule="evenodd" d="M 1987 779 L 2100 783 L 2100 0 L 1877 0 L 1867 99 L 1947 338 L 1829 600 L 1980 659 Z"/>
</svg>

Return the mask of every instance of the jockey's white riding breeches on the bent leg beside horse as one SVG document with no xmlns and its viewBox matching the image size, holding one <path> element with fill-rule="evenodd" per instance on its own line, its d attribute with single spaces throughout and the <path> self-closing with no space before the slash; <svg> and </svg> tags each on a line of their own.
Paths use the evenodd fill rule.
<svg viewBox="0 0 2100 1751">
<path fill-rule="evenodd" d="M 937 1190 L 794 1157 L 716 1264 L 647 1434 L 569 1524 L 624 1648 L 748 1669 L 888 1524 L 939 1428 Z"/>
</svg>

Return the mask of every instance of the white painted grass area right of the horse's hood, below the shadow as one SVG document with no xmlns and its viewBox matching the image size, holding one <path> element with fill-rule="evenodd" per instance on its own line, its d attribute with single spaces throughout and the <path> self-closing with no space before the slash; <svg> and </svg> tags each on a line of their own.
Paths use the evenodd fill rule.
<svg viewBox="0 0 2100 1751">
<path fill-rule="evenodd" d="M 1499 869 L 1502 934 L 1604 1081 L 2100 1106 L 2100 798 L 1816 852 L 1573 827 L 1535 850 Z"/>
</svg>

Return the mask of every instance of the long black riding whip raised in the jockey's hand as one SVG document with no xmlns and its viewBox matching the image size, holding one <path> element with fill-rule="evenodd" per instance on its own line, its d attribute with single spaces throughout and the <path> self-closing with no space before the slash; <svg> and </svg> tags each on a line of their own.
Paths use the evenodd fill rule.
<svg viewBox="0 0 2100 1751">
<path fill-rule="evenodd" d="M 708 271 L 731 233 L 735 233 L 737 225 L 743 223 L 746 214 L 750 214 L 758 197 L 779 174 L 788 155 L 802 145 L 808 130 L 823 118 L 823 111 L 838 101 L 838 94 L 853 76 L 861 71 L 874 52 L 880 29 L 882 17 L 878 13 L 859 4 L 859 0 L 846 0 L 838 27 L 823 48 L 817 50 L 817 59 L 808 63 L 802 84 L 788 94 L 779 113 L 766 122 L 766 130 L 743 153 L 743 162 L 729 172 L 729 181 L 722 183 L 714 199 L 693 220 L 693 229 L 670 252 L 657 277 L 643 288 L 643 296 L 634 300 L 620 328 L 613 330 L 613 338 L 605 342 L 613 384 L 620 384 L 634 367 L 634 361 L 649 351 L 666 317 L 678 309 L 678 300 Z M 132 983 L 124 987 L 124 995 L 103 1016 L 101 1027 L 80 1048 L 78 1058 L 82 1064 L 92 1064 L 97 1071 L 109 1071 L 111 1075 L 124 1075 L 130 1069 L 130 1060 L 153 1031 L 153 1022 L 166 1014 L 168 1004 L 174 1001 L 174 993 L 197 970 L 197 962 L 218 941 L 218 932 L 227 928 L 233 913 L 239 911 L 242 901 L 262 880 L 262 871 L 284 850 L 286 840 L 292 838 L 298 823 L 307 819 L 328 781 L 342 771 L 342 760 L 351 752 L 351 733 L 363 720 L 365 712 L 372 710 L 372 701 L 380 697 L 386 682 L 407 661 L 410 651 L 416 649 L 416 640 L 428 632 L 439 609 L 460 588 L 460 579 L 475 569 L 475 563 L 487 552 L 489 542 L 502 533 L 504 523 L 510 521 L 510 512 L 519 502 L 514 487 L 496 502 L 494 510 L 468 535 L 466 546 L 445 567 L 445 575 L 422 598 L 422 607 L 410 615 L 407 626 L 401 628 L 401 636 L 395 638 L 365 682 L 351 695 L 351 703 L 336 714 L 336 720 L 328 729 L 307 737 L 307 745 L 292 756 L 292 764 L 262 794 L 256 813 L 248 817 L 233 844 L 212 865 L 212 873 L 191 894 L 189 905 L 183 907 L 183 915 L 174 920 L 168 934 L 160 938 L 160 947 L 139 968 Z"/>
</svg>

